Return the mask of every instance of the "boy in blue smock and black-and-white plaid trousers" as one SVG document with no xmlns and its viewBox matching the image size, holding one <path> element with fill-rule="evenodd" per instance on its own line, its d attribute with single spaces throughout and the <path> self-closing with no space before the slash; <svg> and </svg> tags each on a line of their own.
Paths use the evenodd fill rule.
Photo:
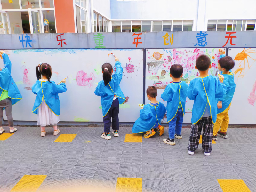
<svg viewBox="0 0 256 192">
<path fill-rule="evenodd" d="M 194 155 L 198 148 L 200 134 L 202 134 L 202 148 L 204 155 L 209 156 L 212 151 L 213 124 L 217 118 L 216 98 L 222 98 L 225 94 L 226 86 L 221 83 L 224 80 L 222 75 L 219 79 L 208 75 L 211 68 L 211 60 L 206 55 L 200 55 L 196 59 L 196 69 L 199 77 L 193 79 L 188 87 L 188 99 L 193 100 L 191 132 L 188 142 L 188 154 Z"/>
</svg>

